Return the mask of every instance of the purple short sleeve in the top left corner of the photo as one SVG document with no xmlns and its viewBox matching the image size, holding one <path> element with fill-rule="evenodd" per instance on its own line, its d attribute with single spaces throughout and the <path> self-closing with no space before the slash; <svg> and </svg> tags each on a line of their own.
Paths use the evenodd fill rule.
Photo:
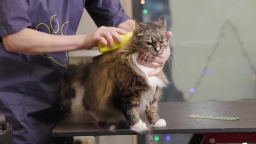
<svg viewBox="0 0 256 144">
<path fill-rule="evenodd" d="M 31 26 L 27 0 L 0 0 L 0 37 Z"/>
</svg>

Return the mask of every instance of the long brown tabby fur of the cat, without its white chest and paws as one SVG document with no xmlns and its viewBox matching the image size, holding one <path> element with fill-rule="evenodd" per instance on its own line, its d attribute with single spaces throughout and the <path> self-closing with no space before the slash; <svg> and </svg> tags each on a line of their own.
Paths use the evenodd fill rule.
<svg viewBox="0 0 256 144">
<path fill-rule="evenodd" d="M 149 35 L 155 36 L 150 38 Z M 83 106 L 86 111 L 93 112 L 96 121 L 93 123 L 107 122 L 120 117 L 125 119 L 129 126 L 135 125 L 140 120 L 138 108 L 141 96 L 149 90 L 149 85 L 147 75 L 134 64 L 133 54 L 138 51 L 154 51 L 155 47 L 149 48 L 143 40 L 154 41 L 157 37 L 159 40 L 162 39 L 164 44 L 155 43 L 161 48 L 155 56 L 164 53 L 168 47 L 163 16 L 158 21 L 146 24 L 136 21 L 133 37 L 122 48 L 96 56 L 88 64 L 78 64 L 67 69 L 62 85 L 62 96 L 73 99 L 76 93 L 73 83 L 77 83 L 85 89 Z M 168 84 L 163 71 L 157 76 L 165 85 Z M 161 95 L 162 88 L 157 87 L 153 100 L 144 112 L 152 125 L 160 119 L 157 115 L 157 102 Z"/>
</svg>

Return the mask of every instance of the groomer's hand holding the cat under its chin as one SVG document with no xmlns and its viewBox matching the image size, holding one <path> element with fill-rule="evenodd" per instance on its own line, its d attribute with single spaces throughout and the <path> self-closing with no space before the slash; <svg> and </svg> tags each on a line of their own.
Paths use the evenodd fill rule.
<svg viewBox="0 0 256 144">
<path fill-rule="evenodd" d="M 167 32 L 166 35 L 168 39 L 167 40 L 168 48 L 166 48 L 165 52 L 162 55 L 152 58 L 151 61 L 149 61 L 148 56 L 145 58 L 145 61 L 139 61 L 139 59 L 137 60 L 140 64 L 143 63 L 143 65 L 145 66 L 155 68 L 153 71 L 148 73 L 149 77 L 157 75 L 163 69 L 165 62 L 168 60 L 171 54 L 171 48 L 169 47 L 169 39 L 172 33 Z"/>
</svg>

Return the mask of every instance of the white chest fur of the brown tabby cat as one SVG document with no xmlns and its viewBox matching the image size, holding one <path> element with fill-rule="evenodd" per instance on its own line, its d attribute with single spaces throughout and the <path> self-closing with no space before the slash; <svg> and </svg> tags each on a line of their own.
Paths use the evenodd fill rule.
<svg viewBox="0 0 256 144">
<path fill-rule="evenodd" d="M 149 85 L 149 90 L 146 91 L 145 93 L 143 93 L 143 96 L 141 96 L 141 105 L 139 107 L 139 112 L 140 113 L 144 113 L 147 106 L 149 106 L 149 103 L 153 100 L 154 98 L 154 94 L 155 94 L 155 91 L 156 91 L 156 88 L 157 86 L 162 88 L 165 86 L 165 84 L 163 83 L 163 81 L 160 79 L 160 77 L 158 76 L 152 76 L 152 77 L 149 77 L 148 76 L 148 72 L 151 72 L 154 70 L 154 68 L 151 68 L 151 67 L 147 67 L 147 66 L 144 66 L 142 64 L 139 64 L 137 61 L 136 61 L 136 58 L 137 58 L 138 54 L 135 53 L 133 55 L 133 62 L 134 64 L 136 64 L 137 67 L 139 67 L 139 69 L 141 69 L 142 72 L 145 73 L 146 75 L 146 78 L 147 78 L 147 84 Z"/>
</svg>

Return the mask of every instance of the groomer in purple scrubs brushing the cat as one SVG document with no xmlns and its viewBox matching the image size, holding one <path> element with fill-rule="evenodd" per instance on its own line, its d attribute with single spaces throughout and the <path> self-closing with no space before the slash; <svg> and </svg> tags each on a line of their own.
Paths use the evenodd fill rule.
<svg viewBox="0 0 256 144">
<path fill-rule="evenodd" d="M 75 35 L 84 8 L 99 28 Z M 119 0 L 0 0 L 0 115 L 13 126 L 14 144 L 57 144 L 51 130 L 61 113 L 67 52 L 113 45 L 133 29 Z M 156 68 L 149 75 L 169 55 L 147 62 Z"/>
</svg>

